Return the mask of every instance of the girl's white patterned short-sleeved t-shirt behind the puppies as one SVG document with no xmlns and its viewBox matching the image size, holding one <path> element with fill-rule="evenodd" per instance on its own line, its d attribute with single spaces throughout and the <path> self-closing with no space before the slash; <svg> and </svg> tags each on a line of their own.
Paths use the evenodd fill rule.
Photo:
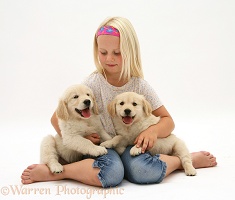
<svg viewBox="0 0 235 200">
<path fill-rule="evenodd" d="M 116 95 L 123 92 L 136 92 L 145 96 L 153 110 L 162 106 L 154 89 L 147 81 L 138 77 L 132 77 L 130 81 L 122 87 L 115 87 L 110 85 L 102 74 L 94 72 L 83 81 L 83 84 L 92 89 L 96 98 L 103 127 L 112 137 L 116 134 L 113 121 L 107 111 L 107 105 Z"/>
</svg>

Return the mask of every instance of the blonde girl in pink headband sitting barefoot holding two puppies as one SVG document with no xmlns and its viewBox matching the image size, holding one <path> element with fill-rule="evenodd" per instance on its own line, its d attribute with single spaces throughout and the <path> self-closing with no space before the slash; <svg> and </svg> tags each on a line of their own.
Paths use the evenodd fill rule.
<svg viewBox="0 0 235 200">
<path fill-rule="evenodd" d="M 73 179 L 87 185 L 114 187 L 121 183 L 124 174 L 133 183 L 160 183 L 171 172 L 182 169 L 178 157 L 145 153 L 157 138 L 171 134 L 174 122 L 153 88 L 143 79 L 138 39 L 127 19 L 112 17 L 99 26 L 94 37 L 94 60 L 97 70 L 83 83 L 93 90 L 102 124 L 111 136 L 115 135 L 115 130 L 106 107 L 117 94 L 126 91 L 142 94 L 151 103 L 153 114 L 161 116 L 158 124 L 149 127 L 136 138 L 136 145 L 142 146 L 142 154 L 131 157 L 131 147 L 128 147 L 120 157 L 113 149 L 108 149 L 108 154 L 104 156 L 65 164 L 60 174 L 52 174 L 44 164 L 34 164 L 23 171 L 23 184 Z M 55 113 L 51 122 L 61 135 Z M 99 144 L 97 133 L 87 138 Z M 200 151 L 191 155 L 195 168 L 217 165 L 216 158 L 209 152 Z"/>
</svg>

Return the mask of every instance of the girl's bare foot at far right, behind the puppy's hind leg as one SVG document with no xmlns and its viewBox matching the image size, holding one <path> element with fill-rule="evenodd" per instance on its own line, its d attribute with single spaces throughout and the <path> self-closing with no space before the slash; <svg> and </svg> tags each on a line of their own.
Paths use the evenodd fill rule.
<svg viewBox="0 0 235 200">
<path fill-rule="evenodd" d="M 198 168 L 214 167 L 217 165 L 216 157 L 207 151 L 191 153 L 193 166 Z"/>
</svg>

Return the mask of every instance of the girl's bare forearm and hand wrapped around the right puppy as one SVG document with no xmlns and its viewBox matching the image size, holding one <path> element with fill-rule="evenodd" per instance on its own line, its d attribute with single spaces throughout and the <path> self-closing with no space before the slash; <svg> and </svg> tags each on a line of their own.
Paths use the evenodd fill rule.
<svg viewBox="0 0 235 200">
<path fill-rule="evenodd" d="M 158 137 L 165 138 L 169 136 L 175 128 L 174 121 L 164 106 L 154 110 L 153 115 L 160 116 L 160 121 L 143 131 L 135 140 L 137 147 L 142 146 L 142 153 L 145 150 L 151 149 Z"/>
</svg>

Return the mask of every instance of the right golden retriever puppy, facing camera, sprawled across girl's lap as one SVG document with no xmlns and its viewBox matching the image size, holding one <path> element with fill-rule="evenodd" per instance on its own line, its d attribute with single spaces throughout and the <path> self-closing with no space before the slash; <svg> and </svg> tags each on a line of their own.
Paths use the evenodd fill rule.
<svg viewBox="0 0 235 200">
<path fill-rule="evenodd" d="M 117 95 L 108 105 L 108 111 L 113 117 L 116 136 L 101 143 L 106 148 L 115 148 L 122 154 L 128 145 L 134 145 L 136 137 L 149 126 L 157 124 L 160 117 L 152 114 L 152 108 L 143 95 L 134 92 L 125 92 Z M 181 160 L 185 174 L 196 175 L 192 165 L 190 153 L 185 143 L 171 134 L 167 138 L 158 138 L 156 144 L 149 150 L 151 155 L 167 154 L 178 156 Z M 132 156 L 139 155 L 141 147 L 133 146 L 130 150 Z"/>
</svg>

